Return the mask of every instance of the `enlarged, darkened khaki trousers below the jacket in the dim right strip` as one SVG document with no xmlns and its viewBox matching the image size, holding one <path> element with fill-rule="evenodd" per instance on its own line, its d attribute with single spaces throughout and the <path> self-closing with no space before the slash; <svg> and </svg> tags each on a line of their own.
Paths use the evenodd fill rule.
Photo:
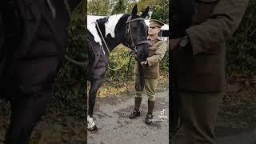
<svg viewBox="0 0 256 144">
<path fill-rule="evenodd" d="M 214 127 L 223 93 L 188 93 L 179 91 L 180 114 L 187 144 L 216 144 Z"/>
</svg>

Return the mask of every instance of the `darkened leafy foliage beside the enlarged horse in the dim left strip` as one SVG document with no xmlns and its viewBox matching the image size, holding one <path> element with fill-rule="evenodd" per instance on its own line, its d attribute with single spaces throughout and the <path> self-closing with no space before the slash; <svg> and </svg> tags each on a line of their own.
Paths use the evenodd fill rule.
<svg viewBox="0 0 256 144">
<path fill-rule="evenodd" d="M 78 61 L 86 58 L 86 3 L 82 2 L 73 12 L 70 22 L 70 39 L 67 54 Z M 65 114 L 86 115 L 86 67 L 64 62 L 54 83 L 51 114 L 63 110 Z"/>
</svg>

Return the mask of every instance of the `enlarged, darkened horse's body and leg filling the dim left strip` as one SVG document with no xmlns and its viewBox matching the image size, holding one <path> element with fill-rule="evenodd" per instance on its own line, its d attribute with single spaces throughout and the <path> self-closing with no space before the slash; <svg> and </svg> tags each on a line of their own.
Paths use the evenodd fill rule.
<svg viewBox="0 0 256 144">
<path fill-rule="evenodd" d="M 69 11 L 82 0 L 8 0 L 1 11 L 1 97 L 10 101 L 6 144 L 28 144 L 52 98 L 54 76 L 67 46 Z M 10 7 L 18 10 L 11 19 Z M 16 19 L 15 19 L 16 18 Z M 14 22 L 15 21 L 15 22 Z M 20 33 L 12 33 L 17 23 Z M 2 25 L 1 25 L 2 23 Z M 16 27 L 16 28 L 17 28 Z"/>
</svg>

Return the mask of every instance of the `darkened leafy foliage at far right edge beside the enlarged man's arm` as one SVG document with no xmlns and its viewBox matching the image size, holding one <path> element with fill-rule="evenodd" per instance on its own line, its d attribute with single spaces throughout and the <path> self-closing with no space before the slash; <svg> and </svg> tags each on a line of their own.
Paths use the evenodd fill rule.
<svg viewBox="0 0 256 144">
<path fill-rule="evenodd" d="M 256 1 L 247 7 L 242 23 L 227 43 L 227 67 L 231 77 L 250 77 L 256 70 Z"/>
</svg>

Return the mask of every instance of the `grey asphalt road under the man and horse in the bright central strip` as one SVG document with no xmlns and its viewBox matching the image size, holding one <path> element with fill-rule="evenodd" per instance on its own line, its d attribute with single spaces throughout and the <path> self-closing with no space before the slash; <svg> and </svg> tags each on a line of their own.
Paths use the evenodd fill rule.
<svg viewBox="0 0 256 144">
<path fill-rule="evenodd" d="M 133 96 L 126 96 L 116 104 L 101 103 L 94 111 L 98 132 L 88 132 L 88 144 L 166 144 L 169 143 L 169 91 L 156 94 L 154 123 L 145 124 L 147 98 L 143 95 L 142 115 L 128 118 L 134 108 Z M 97 104 L 99 105 L 99 103 Z M 161 114 L 162 111 L 162 114 Z"/>
</svg>

